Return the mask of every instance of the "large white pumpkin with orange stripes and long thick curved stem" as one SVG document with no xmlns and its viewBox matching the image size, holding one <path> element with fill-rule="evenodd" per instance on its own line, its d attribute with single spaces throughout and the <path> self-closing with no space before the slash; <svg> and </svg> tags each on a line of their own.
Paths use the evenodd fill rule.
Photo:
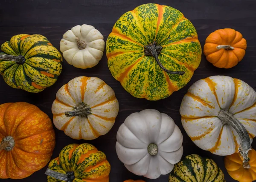
<svg viewBox="0 0 256 182">
<path fill-rule="evenodd" d="M 240 152 L 248 161 L 256 136 L 256 92 L 227 76 L 195 82 L 180 107 L 182 125 L 201 149 L 226 156 Z"/>
</svg>

